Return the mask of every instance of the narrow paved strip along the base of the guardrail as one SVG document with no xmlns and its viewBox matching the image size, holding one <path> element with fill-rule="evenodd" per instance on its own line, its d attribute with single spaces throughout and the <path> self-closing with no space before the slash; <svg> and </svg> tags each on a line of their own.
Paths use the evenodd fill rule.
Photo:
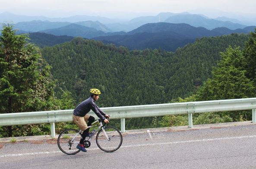
<svg viewBox="0 0 256 169">
<path fill-rule="evenodd" d="M 146 128 L 146 129 L 136 129 L 136 130 L 126 130 L 123 135 L 146 133 L 146 132 L 177 132 L 177 131 L 187 131 L 187 130 L 200 130 L 203 128 L 222 128 L 222 127 L 235 127 L 240 125 L 256 125 L 252 121 L 246 122 L 228 122 L 228 123 L 215 123 L 215 124 L 205 124 L 205 125 L 193 125 L 193 128 L 185 126 L 174 126 L 174 127 L 163 127 L 163 128 Z M 55 139 L 57 136 L 55 137 Z M 13 138 L 0 138 L 0 143 L 11 142 Z M 15 137 L 16 141 L 39 141 L 39 140 L 53 140 L 51 135 L 39 135 L 39 136 L 26 136 L 26 137 Z"/>
</svg>

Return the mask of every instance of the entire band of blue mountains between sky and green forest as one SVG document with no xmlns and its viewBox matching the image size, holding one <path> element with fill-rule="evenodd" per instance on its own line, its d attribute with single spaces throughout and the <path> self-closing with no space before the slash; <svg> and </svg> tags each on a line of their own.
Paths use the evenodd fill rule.
<svg viewBox="0 0 256 169">
<path fill-rule="evenodd" d="M 13 15 L 2 13 L 0 14 L 0 19 L 3 20 L 2 16 L 9 16 L 11 18 Z M 22 16 L 17 16 L 16 19 L 21 20 L 20 17 L 22 18 Z M 71 19 L 73 22 L 68 22 L 70 18 L 73 19 Z M 79 21 L 82 18 L 92 20 Z M 46 18 L 42 17 L 41 19 Z M 99 19 L 105 22 L 105 24 L 93 19 Z M 40 47 L 70 41 L 73 37 L 82 37 L 116 44 L 117 46 L 125 46 L 130 50 L 161 48 L 168 51 L 175 51 L 178 47 L 183 47 L 195 41 L 196 38 L 232 33 L 248 34 L 250 31 L 254 31 L 255 28 L 255 26 L 225 21 L 228 19 L 225 17 L 220 19 L 222 21 L 189 13 L 159 13 L 157 16 L 143 16 L 134 18 L 126 23 L 121 23 L 104 17 L 74 16 L 55 19 L 55 22 L 47 20 L 18 22 L 14 24 L 14 28 L 17 29 L 17 33 L 30 33 L 34 35 L 32 41 L 36 42 Z M 235 22 L 236 20 L 233 21 Z M 38 34 L 32 34 L 32 32 L 38 32 Z M 41 38 L 42 41 L 36 40 L 36 38 L 42 36 L 45 36 L 45 38 Z M 51 38 L 52 43 L 49 40 Z"/>
</svg>

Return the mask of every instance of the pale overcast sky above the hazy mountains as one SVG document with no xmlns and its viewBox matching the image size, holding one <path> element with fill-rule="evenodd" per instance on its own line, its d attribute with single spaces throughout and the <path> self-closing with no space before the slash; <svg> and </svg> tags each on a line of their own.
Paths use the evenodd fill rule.
<svg viewBox="0 0 256 169">
<path fill-rule="evenodd" d="M 0 0 L 0 13 L 51 18 L 88 15 L 131 19 L 161 12 L 201 13 L 211 18 L 224 13 L 249 14 L 256 18 L 255 9 L 256 0 Z"/>
</svg>

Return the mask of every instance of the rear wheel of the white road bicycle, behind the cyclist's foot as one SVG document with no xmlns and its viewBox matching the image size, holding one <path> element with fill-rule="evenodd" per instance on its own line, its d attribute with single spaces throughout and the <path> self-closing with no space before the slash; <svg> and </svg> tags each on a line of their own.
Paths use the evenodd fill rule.
<svg viewBox="0 0 256 169">
<path fill-rule="evenodd" d="M 79 133 L 77 135 L 77 133 L 78 133 L 78 130 L 75 130 L 75 129 L 67 129 L 62 133 L 60 133 L 57 140 L 57 144 L 63 153 L 70 155 L 70 154 L 76 154 L 80 151 L 79 149 L 76 148 L 76 146 L 79 143 L 82 137 L 82 134 Z"/>
</svg>

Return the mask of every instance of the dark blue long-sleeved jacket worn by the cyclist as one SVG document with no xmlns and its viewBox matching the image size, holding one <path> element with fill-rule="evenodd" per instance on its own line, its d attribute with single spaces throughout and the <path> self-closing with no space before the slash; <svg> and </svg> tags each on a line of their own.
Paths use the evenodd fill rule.
<svg viewBox="0 0 256 169">
<path fill-rule="evenodd" d="M 104 117 L 106 113 L 100 110 L 100 108 L 95 104 L 95 100 L 92 97 L 89 97 L 88 99 L 80 103 L 78 106 L 76 106 L 76 109 L 73 111 L 73 114 L 75 116 L 83 117 L 90 110 L 92 110 L 101 120 L 106 119 Z"/>
</svg>

